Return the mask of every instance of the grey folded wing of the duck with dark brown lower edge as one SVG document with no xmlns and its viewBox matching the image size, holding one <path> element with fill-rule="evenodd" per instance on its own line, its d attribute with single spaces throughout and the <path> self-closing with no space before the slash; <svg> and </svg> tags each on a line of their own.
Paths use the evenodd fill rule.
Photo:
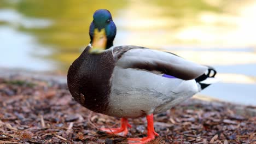
<svg viewBox="0 0 256 144">
<path fill-rule="evenodd" d="M 208 69 L 206 66 L 187 61 L 172 53 L 142 48 L 136 46 L 118 47 L 118 53 L 122 53 L 122 55 L 116 55 L 118 57 L 116 65 L 123 68 L 160 71 L 163 74 L 183 80 L 196 79 Z"/>
</svg>

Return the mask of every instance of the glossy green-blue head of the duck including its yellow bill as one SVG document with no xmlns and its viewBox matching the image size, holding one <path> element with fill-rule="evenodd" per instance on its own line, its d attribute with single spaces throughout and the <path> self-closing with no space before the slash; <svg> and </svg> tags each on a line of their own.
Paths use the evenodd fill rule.
<svg viewBox="0 0 256 144">
<path fill-rule="evenodd" d="M 93 18 L 89 30 L 90 43 L 92 44 L 90 52 L 100 53 L 113 46 L 117 27 L 112 20 L 112 15 L 106 9 L 96 10 Z"/>
</svg>

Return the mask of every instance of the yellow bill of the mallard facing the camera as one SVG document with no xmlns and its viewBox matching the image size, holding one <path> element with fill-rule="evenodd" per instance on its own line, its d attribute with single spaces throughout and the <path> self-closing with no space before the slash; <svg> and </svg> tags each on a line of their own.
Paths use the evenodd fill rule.
<svg viewBox="0 0 256 144">
<path fill-rule="evenodd" d="M 107 36 L 105 29 L 102 28 L 101 31 L 98 28 L 94 29 L 94 38 L 92 39 L 92 48 L 89 50 L 90 53 L 98 54 L 102 53 L 106 49 Z"/>
</svg>

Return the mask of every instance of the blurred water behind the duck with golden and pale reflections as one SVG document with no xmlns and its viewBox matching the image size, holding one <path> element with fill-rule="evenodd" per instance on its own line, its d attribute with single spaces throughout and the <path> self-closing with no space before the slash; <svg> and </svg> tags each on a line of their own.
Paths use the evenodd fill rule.
<svg viewBox="0 0 256 144">
<path fill-rule="evenodd" d="M 222 81 L 202 95 L 256 105 L 256 1 L 0 0 L 0 68 L 66 75 L 88 45 L 92 14 L 101 8 L 117 25 L 114 45 L 212 65 Z"/>
</svg>

